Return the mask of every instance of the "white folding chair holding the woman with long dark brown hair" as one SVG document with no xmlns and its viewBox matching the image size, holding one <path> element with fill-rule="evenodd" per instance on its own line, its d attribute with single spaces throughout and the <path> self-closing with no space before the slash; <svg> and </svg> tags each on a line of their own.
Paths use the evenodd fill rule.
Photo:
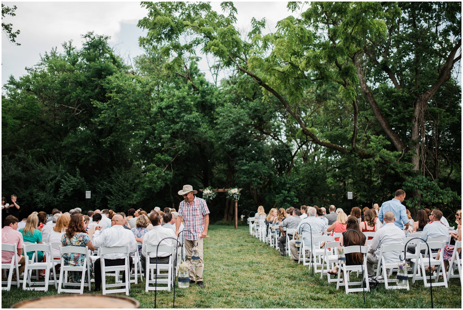
<svg viewBox="0 0 463 310">
<path fill-rule="evenodd" d="M 344 254 L 351 253 L 361 253 L 363 254 L 363 265 L 346 265 L 345 263 L 341 264 L 338 268 L 338 278 L 336 289 L 339 289 L 339 286 L 344 286 L 346 294 L 350 292 L 363 291 L 363 281 L 366 282 L 365 291 L 370 290 L 368 282 L 368 272 L 367 272 L 367 252 L 368 247 L 352 245 L 350 247 L 344 247 Z M 349 273 L 351 272 L 362 272 L 362 280 L 360 282 L 350 282 Z M 343 273 L 344 282 L 339 282 L 341 280 L 341 273 Z M 349 288 L 349 285 L 361 285 L 362 287 Z"/>
</svg>

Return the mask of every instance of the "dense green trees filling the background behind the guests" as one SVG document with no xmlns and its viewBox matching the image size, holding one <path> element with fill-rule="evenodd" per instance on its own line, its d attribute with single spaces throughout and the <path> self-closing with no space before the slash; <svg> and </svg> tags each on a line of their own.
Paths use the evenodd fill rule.
<svg viewBox="0 0 463 310">
<path fill-rule="evenodd" d="M 132 66 L 88 33 L 4 85 L 4 196 L 151 210 L 184 184 L 237 186 L 241 210 L 268 211 L 403 188 L 412 211 L 461 207 L 461 3 L 311 2 L 267 34 L 240 33 L 232 2 L 142 6 Z M 206 56 L 231 74 L 207 81 Z M 225 196 L 208 203 L 232 218 Z"/>
</svg>

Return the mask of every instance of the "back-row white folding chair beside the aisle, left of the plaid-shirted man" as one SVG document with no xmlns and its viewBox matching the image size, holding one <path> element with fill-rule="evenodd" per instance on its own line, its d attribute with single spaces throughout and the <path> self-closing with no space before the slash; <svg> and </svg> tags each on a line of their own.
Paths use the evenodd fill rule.
<svg viewBox="0 0 463 310">
<path fill-rule="evenodd" d="M 173 245 L 147 245 L 146 247 L 146 283 L 145 283 L 145 291 L 170 291 L 170 287 L 172 285 L 172 266 L 173 260 L 172 257 L 175 255 L 175 248 Z M 169 263 L 168 264 L 157 264 L 150 263 L 150 253 L 170 253 L 169 254 Z M 165 255 L 167 256 L 167 255 Z M 161 271 L 167 271 L 167 273 L 161 273 Z M 151 276 L 150 276 L 151 275 Z M 150 286 L 150 284 L 154 284 L 154 286 Z M 167 286 L 157 286 L 159 284 L 166 284 Z"/>
</svg>

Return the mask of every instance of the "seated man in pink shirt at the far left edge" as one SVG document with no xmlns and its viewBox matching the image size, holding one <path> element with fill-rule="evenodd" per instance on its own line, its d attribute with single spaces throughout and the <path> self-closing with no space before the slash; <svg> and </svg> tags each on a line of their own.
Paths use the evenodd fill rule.
<svg viewBox="0 0 463 310">
<path fill-rule="evenodd" d="M 23 235 L 16 231 L 18 228 L 18 219 L 13 217 L 13 215 L 8 215 L 5 217 L 5 222 L 3 222 L 4 227 L 1 229 L 1 243 L 7 244 L 16 244 L 16 250 L 18 251 L 18 264 L 19 275 L 21 275 L 24 271 L 25 267 L 25 256 L 23 254 Z M 14 252 L 10 251 L 1 251 L 1 263 L 2 264 L 10 264 L 11 259 L 13 258 Z M 3 271 L 1 273 L 2 281 L 6 281 L 4 279 Z M 16 282 L 16 272 L 13 272 L 13 282 Z"/>
</svg>

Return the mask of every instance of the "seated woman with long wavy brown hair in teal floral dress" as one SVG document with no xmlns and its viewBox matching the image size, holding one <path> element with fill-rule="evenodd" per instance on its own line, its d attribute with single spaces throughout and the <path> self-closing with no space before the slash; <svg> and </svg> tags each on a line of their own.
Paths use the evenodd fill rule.
<svg viewBox="0 0 463 310">
<path fill-rule="evenodd" d="M 85 232 L 84 228 L 84 217 L 81 214 L 74 214 L 71 216 L 69 221 L 68 228 L 66 233 L 63 234 L 61 238 L 63 247 L 75 246 L 75 247 L 85 247 L 87 246 L 89 250 L 94 251 L 95 247 L 93 246 L 88 234 Z M 64 265 L 65 266 L 83 266 L 85 255 L 78 253 L 67 253 L 63 254 Z M 90 274 L 93 273 L 92 264 L 90 264 Z M 68 271 L 69 282 L 71 283 L 81 283 L 82 273 L 79 271 Z M 85 273 L 85 282 L 88 282 L 88 273 Z"/>
</svg>

